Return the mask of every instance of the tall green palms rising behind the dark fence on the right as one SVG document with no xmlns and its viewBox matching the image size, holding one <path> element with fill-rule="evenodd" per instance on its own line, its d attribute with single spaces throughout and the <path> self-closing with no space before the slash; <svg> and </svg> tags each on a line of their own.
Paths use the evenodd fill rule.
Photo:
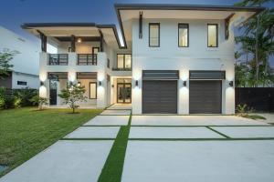
<svg viewBox="0 0 274 182">
<path fill-rule="evenodd" d="M 273 0 L 243 0 L 235 5 L 262 6 L 268 2 Z M 274 9 L 265 9 L 254 18 L 250 18 L 241 28 L 245 30 L 244 35 L 236 37 L 236 42 L 241 43 L 242 49 L 247 53 L 247 59 L 248 53 L 253 55 L 251 68 L 255 68 L 255 86 L 258 86 L 263 78 L 267 78 L 264 75 L 269 75 L 269 56 L 273 55 L 274 51 Z M 264 66 L 262 72 L 261 66 Z"/>
</svg>

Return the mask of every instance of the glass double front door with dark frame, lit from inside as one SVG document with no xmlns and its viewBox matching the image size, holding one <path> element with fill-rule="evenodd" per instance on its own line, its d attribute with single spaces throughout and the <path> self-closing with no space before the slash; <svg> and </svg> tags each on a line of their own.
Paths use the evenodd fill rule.
<svg viewBox="0 0 274 182">
<path fill-rule="evenodd" d="M 117 84 L 117 103 L 132 103 L 132 84 Z"/>
</svg>

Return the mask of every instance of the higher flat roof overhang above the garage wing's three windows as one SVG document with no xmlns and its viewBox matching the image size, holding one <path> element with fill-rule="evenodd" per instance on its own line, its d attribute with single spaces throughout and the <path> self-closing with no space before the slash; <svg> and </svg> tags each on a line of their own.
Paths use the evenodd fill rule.
<svg viewBox="0 0 274 182">
<path fill-rule="evenodd" d="M 115 4 L 115 10 L 121 27 L 124 46 L 132 40 L 133 19 L 226 19 L 237 17 L 237 25 L 245 22 L 253 15 L 263 11 L 263 7 L 232 6 L 232 5 L 172 5 L 172 4 Z M 210 12 L 210 14 L 209 14 Z"/>
</svg>

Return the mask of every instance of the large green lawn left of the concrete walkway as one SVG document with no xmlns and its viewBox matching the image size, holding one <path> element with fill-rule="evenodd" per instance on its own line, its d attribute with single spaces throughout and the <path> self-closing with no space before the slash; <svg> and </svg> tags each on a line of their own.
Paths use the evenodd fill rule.
<svg viewBox="0 0 274 182">
<path fill-rule="evenodd" d="M 8 166 L 0 177 L 49 147 L 58 139 L 100 114 L 100 109 L 37 111 L 34 107 L 0 111 L 0 165 Z"/>
</svg>

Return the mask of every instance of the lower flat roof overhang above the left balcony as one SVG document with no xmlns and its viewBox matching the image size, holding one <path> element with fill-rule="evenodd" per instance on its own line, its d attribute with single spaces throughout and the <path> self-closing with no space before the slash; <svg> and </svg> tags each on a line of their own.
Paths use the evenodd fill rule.
<svg viewBox="0 0 274 182">
<path fill-rule="evenodd" d="M 68 41 L 68 37 L 75 35 L 85 37 L 86 40 L 96 40 L 103 35 L 104 40 L 117 47 L 122 48 L 116 25 L 97 25 L 95 23 L 26 23 L 21 25 L 30 34 L 39 36 L 40 33 L 50 37 L 53 42 Z"/>
</svg>

